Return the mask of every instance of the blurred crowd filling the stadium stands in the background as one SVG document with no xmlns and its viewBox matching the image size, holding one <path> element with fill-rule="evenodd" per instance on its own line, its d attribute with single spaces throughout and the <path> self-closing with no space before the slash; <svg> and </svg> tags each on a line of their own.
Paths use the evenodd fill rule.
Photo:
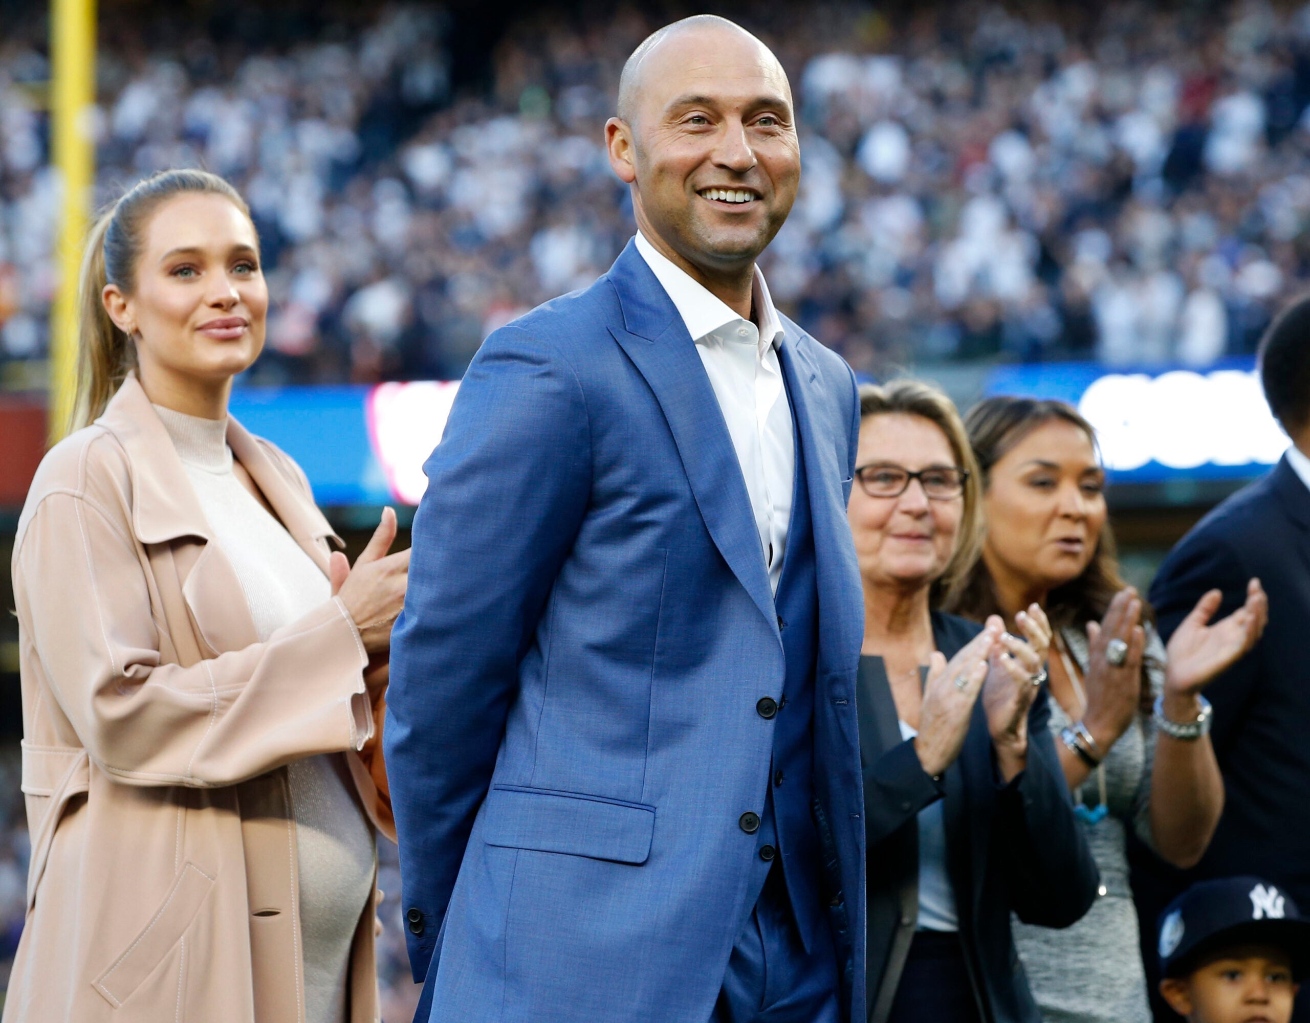
<svg viewBox="0 0 1310 1023">
<path fill-rule="evenodd" d="M 800 111 L 803 187 L 770 286 L 859 371 L 1204 365 L 1252 351 L 1298 289 L 1310 8 L 728 13 L 779 52 Z M 241 189 L 275 303 L 269 382 L 458 376 L 631 232 L 601 126 L 655 21 L 524 14 L 453 88 L 466 41 L 445 12 L 367 18 L 263 45 L 115 25 L 101 48 L 97 198 L 183 164 Z M 24 360 L 47 344 L 59 186 L 41 35 L 8 37 L 0 358 Z"/>
</svg>

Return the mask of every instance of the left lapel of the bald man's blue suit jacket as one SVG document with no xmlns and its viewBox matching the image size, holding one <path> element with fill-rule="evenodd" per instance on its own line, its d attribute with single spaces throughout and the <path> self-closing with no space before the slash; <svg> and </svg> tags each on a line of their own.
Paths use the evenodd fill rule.
<svg viewBox="0 0 1310 1023">
<path fill-rule="evenodd" d="M 635 246 L 609 271 L 624 325 L 609 333 L 655 394 L 714 545 L 770 625 L 777 613 L 751 498 L 696 343 Z M 781 641 L 779 641 L 781 642 Z"/>
</svg>

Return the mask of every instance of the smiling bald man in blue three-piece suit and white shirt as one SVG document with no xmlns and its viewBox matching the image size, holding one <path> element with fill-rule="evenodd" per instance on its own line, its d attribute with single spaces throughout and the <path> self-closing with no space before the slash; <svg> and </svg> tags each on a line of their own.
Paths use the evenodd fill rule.
<svg viewBox="0 0 1310 1023">
<path fill-rule="evenodd" d="M 498 330 L 427 462 L 385 728 L 419 1019 L 862 1019 L 846 364 L 756 257 L 791 92 L 722 18 L 629 59 L 639 229 Z"/>
</svg>

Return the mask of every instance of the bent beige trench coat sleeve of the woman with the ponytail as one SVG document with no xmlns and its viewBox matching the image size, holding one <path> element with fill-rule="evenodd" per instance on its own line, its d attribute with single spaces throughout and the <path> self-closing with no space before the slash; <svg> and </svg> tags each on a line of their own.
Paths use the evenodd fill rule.
<svg viewBox="0 0 1310 1023">
<path fill-rule="evenodd" d="M 202 557 L 204 557 L 202 554 Z M 14 553 L 28 664 L 92 761 L 127 785 L 234 785 L 372 735 L 367 663 L 339 600 L 267 642 L 164 663 L 135 544 L 94 500 L 46 495 Z"/>
</svg>

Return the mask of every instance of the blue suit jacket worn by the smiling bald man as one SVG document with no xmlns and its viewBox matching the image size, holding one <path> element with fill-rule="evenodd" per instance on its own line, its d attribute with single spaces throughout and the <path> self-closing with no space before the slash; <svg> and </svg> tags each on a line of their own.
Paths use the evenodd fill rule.
<svg viewBox="0 0 1310 1023">
<path fill-rule="evenodd" d="M 849 367 L 786 322 L 819 589 L 815 809 L 863 1018 Z M 703 1023 L 783 648 L 723 415 L 633 245 L 495 331 L 427 462 L 385 727 L 419 1018 Z M 430 1009 L 428 1009 L 430 1007 Z"/>
</svg>

